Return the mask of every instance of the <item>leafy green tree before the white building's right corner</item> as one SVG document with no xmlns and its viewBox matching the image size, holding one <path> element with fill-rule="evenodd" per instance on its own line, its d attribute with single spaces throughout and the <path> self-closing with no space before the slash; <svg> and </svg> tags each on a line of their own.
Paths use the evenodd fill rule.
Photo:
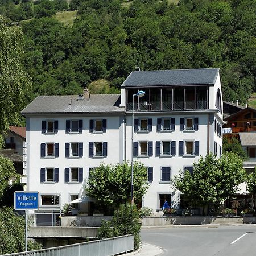
<svg viewBox="0 0 256 256">
<path fill-rule="evenodd" d="M 232 152 L 222 155 L 221 159 L 212 154 L 201 157 L 194 164 L 192 174 L 180 171 L 172 180 L 172 185 L 192 205 L 203 207 L 204 214 L 205 206 L 212 203 L 218 207 L 236 192 L 243 181 L 243 160 Z"/>
</svg>

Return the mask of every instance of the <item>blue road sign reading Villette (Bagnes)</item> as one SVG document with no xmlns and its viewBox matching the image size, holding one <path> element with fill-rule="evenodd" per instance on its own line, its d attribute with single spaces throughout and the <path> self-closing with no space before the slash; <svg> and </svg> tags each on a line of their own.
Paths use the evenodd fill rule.
<svg viewBox="0 0 256 256">
<path fill-rule="evenodd" d="M 15 210 L 38 210 L 38 192 L 14 192 Z"/>
</svg>

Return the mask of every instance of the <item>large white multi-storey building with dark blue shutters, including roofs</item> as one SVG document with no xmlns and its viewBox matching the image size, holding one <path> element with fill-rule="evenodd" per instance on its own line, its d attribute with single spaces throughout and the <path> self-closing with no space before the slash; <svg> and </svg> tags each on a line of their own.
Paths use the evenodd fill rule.
<svg viewBox="0 0 256 256">
<path fill-rule="evenodd" d="M 39 212 L 58 211 L 81 197 L 89 171 L 100 163 L 131 161 L 134 97 L 134 160 L 148 167 L 144 207 L 179 207 L 170 179 L 222 151 L 219 69 L 131 72 L 120 94 L 38 96 L 22 110 L 27 120 L 28 190 L 39 191 Z M 80 191 L 80 192 L 79 192 Z M 89 212 L 89 204 L 84 204 Z"/>
</svg>

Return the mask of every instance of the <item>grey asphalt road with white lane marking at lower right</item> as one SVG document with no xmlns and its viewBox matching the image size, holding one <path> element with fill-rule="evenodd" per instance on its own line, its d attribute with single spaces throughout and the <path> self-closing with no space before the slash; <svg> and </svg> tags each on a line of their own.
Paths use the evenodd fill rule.
<svg viewBox="0 0 256 256">
<path fill-rule="evenodd" d="M 256 225 L 181 226 L 141 230 L 142 242 L 163 249 L 163 255 L 254 256 Z"/>
</svg>

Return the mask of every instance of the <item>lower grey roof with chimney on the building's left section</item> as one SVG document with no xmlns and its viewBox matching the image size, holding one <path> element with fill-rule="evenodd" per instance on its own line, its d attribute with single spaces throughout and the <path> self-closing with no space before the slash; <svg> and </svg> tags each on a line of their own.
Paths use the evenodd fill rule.
<svg viewBox="0 0 256 256">
<path fill-rule="evenodd" d="M 119 108 L 120 94 L 92 94 L 90 100 L 77 96 L 38 96 L 22 114 L 124 112 Z"/>
</svg>

